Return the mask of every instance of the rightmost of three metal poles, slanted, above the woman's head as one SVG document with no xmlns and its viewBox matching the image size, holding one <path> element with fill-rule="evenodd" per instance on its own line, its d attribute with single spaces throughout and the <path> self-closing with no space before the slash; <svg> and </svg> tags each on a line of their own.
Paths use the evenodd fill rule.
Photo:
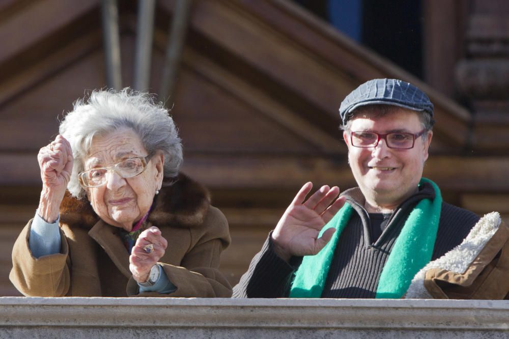
<svg viewBox="0 0 509 339">
<path fill-rule="evenodd" d="M 166 102 L 166 99 L 173 97 L 177 74 L 182 58 L 187 25 L 191 13 L 192 0 L 177 0 L 173 13 L 172 23 L 169 25 L 168 41 L 166 43 L 166 57 L 162 72 L 159 99 Z"/>
</svg>

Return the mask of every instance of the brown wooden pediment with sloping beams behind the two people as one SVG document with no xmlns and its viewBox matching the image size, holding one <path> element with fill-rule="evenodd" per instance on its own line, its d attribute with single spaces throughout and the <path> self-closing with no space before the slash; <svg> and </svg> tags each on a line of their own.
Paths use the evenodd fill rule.
<svg viewBox="0 0 509 339">
<path fill-rule="evenodd" d="M 150 92 L 161 80 L 174 4 L 157 3 Z M 120 17 L 123 86 L 129 86 L 135 3 L 124 3 Z M 100 2 L 6 2 L 0 18 L 0 37 L 8 42 L 0 52 L 0 114 L 11 126 L 0 147 L 31 157 L 58 132 L 58 117 L 75 99 L 105 87 Z M 433 152 L 456 154 L 468 146 L 465 109 L 285 1 L 194 2 L 177 91 L 161 99 L 173 107 L 190 165 L 195 157 L 230 163 L 239 156 L 305 156 L 344 168 L 338 106 L 376 77 L 411 81 L 430 95 Z M 21 143 L 20 131 L 30 131 Z M 323 168 L 310 168 L 316 166 Z M 33 173 L 2 180 L 35 183 Z"/>
</svg>

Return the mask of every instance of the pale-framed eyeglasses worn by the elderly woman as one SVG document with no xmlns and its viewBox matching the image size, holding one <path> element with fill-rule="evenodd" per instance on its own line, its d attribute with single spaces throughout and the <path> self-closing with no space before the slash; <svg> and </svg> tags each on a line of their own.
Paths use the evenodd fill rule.
<svg viewBox="0 0 509 339">
<path fill-rule="evenodd" d="M 106 173 L 113 171 L 122 178 L 132 178 L 142 174 L 147 168 L 147 163 L 152 155 L 144 158 L 129 158 L 117 162 L 116 164 L 108 167 L 97 167 L 92 170 L 83 171 L 78 174 L 78 180 L 83 187 L 99 187 L 106 183 Z"/>
</svg>

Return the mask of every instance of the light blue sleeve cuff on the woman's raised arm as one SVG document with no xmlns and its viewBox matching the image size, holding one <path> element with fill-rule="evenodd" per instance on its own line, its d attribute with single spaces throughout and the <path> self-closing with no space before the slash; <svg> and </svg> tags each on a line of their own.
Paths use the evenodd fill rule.
<svg viewBox="0 0 509 339">
<path fill-rule="evenodd" d="M 60 214 L 55 222 L 48 223 L 39 216 L 39 213 L 35 213 L 29 236 L 29 248 L 32 256 L 40 258 L 60 253 L 59 221 Z"/>
</svg>

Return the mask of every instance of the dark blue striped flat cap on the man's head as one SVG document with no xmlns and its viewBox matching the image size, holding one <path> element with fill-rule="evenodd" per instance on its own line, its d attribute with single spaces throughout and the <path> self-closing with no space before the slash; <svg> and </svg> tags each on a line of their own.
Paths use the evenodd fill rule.
<svg viewBox="0 0 509 339">
<path fill-rule="evenodd" d="M 352 117 L 355 108 L 380 104 L 426 111 L 433 117 L 430 98 L 413 84 L 398 79 L 373 79 L 361 84 L 341 103 L 343 125 Z"/>
</svg>

